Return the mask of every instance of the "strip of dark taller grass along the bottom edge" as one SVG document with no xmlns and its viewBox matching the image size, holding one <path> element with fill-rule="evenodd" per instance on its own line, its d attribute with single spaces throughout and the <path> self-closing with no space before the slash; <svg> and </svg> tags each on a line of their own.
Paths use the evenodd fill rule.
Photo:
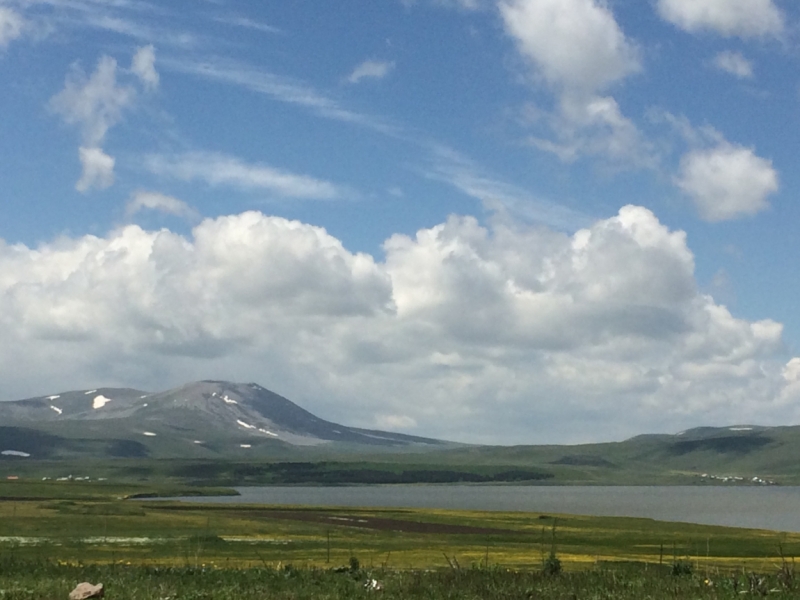
<svg viewBox="0 0 800 600">
<path fill-rule="evenodd" d="M 115 600 L 322 600 L 334 598 L 614 599 L 798 598 L 791 576 L 732 573 L 675 576 L 646 565 L 598 565 L 576 573 L 501 568 L 209 569 L 123 565 L 69 566 L 0 559 L 0 598 L 66 598 L 80 581 L 102 582 Z"/>
</svg>

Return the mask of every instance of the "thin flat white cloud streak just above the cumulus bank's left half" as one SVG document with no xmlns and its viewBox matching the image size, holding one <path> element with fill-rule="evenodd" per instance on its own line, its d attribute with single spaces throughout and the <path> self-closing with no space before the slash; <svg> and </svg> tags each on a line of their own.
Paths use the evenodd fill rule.
<svg viewBox="0 0 800 600">
<path fill-rule="evenodd" d="M 217 152 L 149 154 L 144 166 L 155 175 L 180 181 L 203 181 L 215 187 L 266 191 L 289 198 L 332 200 L 345 194 L 342 187 L 329 181 Z"/>
</svg>

